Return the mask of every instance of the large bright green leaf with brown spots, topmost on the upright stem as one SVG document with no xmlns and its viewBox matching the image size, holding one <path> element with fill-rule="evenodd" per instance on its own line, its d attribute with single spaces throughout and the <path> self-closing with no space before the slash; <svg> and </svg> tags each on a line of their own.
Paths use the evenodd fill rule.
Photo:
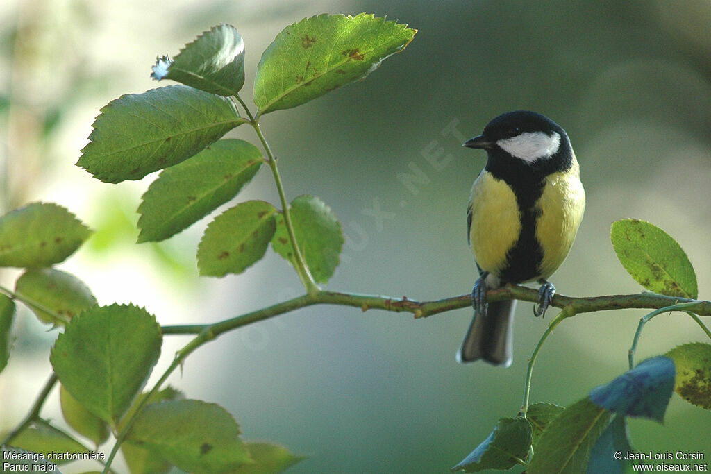
<svg viewBox="0 0 711 474">
<path fill-rule="evenodd" d="M 296 107 L 363 79 L 385 58 L 403 50 L 415 33 L 368 14 L 324 14 L 287 26 L 257 65 L 257 115 Z"/>
</svg>

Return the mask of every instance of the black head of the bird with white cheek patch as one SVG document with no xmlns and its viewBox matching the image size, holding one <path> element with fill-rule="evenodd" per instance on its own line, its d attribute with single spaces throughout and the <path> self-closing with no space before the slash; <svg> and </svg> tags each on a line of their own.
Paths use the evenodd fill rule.
<svg viewBox="0 0 711 474">
<path fill-rule="evenodd" d="M 464 146 L 486 149 L 486 168 L 496 175 L 531 171 L 545 175 L 572 166 L 565 130 L 545 115 L 527 110 L 499 115 Z"/>
</svg>

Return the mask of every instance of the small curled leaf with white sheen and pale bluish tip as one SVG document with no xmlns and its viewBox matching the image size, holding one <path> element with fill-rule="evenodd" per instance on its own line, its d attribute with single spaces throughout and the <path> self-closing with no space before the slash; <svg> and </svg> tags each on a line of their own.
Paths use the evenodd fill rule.
<svg viewBox="0 0 711 474">
<path fill-rule="evenodd" d="M 245 44 L 232 25 L 213 26 L 178 55 L 160 58 L 154 79 L 171 79 L 196 89 L 223 96 L 236 95 L 245 84 Z"/>
</svg>

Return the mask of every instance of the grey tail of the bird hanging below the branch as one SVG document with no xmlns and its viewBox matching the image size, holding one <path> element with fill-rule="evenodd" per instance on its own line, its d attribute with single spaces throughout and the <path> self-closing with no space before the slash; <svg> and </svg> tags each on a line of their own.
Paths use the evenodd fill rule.
<svg viewBox="0 0 711 474">
<path fill-rule="evenodd" d="M 515 300 L 488 303 L 486 316 L 474 313 L 456 360 L 474 362 L 483 359 L 493 365 L 508 367 L 513 361 L 511 339 Z"/>
</svg>

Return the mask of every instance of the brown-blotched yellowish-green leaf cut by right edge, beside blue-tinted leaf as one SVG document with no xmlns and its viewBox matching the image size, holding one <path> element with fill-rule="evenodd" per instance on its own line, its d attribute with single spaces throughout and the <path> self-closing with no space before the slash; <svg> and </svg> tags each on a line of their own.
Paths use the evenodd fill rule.
<svg viewBox="0 0 711 474">
<path fill-rule="evenodd" d="M 711 345 L 689 343 L 666 353 L 674 361 L 674 391 L 690 404 L 711 410 Z"/>
</svg>

